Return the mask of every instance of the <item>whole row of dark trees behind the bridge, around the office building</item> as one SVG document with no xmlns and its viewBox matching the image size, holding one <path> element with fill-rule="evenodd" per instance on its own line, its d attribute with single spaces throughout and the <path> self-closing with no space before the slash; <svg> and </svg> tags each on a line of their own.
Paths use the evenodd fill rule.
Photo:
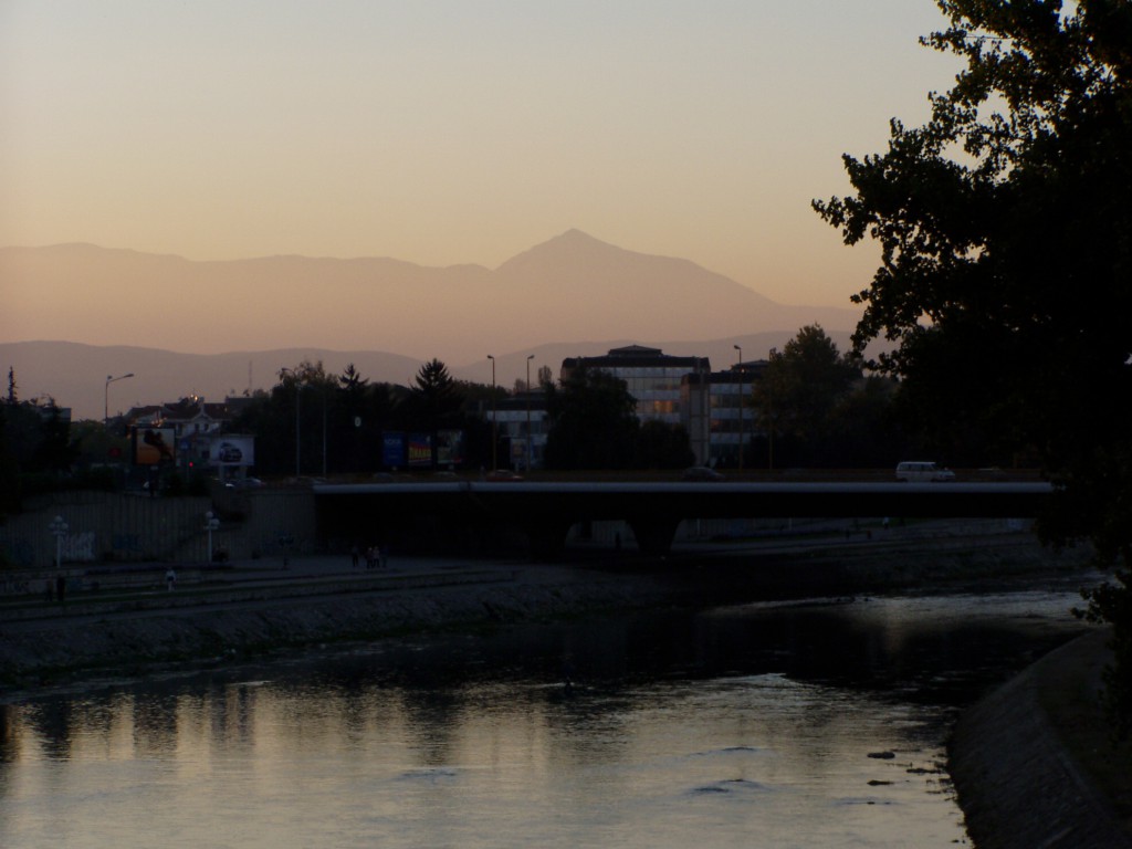
<svg viewBox="0 0 1132 849">
<path fill-rule="evenodd" d="M 695 462 L 683 426 L 640 422 L 625 381 L 600 369 L 578 369 L 563 381 L 540 375 L 549 423 L 544 465 L 561 470 L 684 469 Z M 517 384 L 516 392 L 525 391 Z M 532 387 L 533 388 L 533 387 Z M 745 446 L 754 466 L 883 468 L 919 452 L 946 448 L 952 462 L 993 462 L 974 446 L 925 444 L 901 426 L 892 378 L 866 376 L 861 358 L 841 353 L 817 325 L 804 327 L 769 363 L 745 398 L 761 435 Z M 495 388 L 496 401 L 506 391 Z M 283 369 L 280 383 L 257 394 L 234 428 L 257 436 L 257 470 L 372 472 L 381 468 L 381 434 L 389 430 L 465 434 L 465 463 L 491 462 L 492 429 L 483 410 L 492 388 L 455 380 L 432 360 L 409 387 L 369 383 L 349 366 L 328 375 L 321 363 Z M 773 456 L 772 456 L 773 454 Z M 506 445 L 496 456 L 507 456 Z M 907 455 L 907 456 L 906 456 Z"/>
</svg>

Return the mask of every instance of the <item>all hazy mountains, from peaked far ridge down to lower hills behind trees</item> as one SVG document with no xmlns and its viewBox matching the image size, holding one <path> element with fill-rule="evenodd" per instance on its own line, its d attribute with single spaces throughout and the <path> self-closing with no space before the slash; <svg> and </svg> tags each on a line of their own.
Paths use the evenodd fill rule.
<svg viewBox="0 0 1132 849">
<path fill-rule="evenodd" d="M 456 377 L 511 386 L 565 357 L 624 344 L 765 358 L 821 324 L 844 349 L 859 311 L 775 303 L 686 259 L 624 250 L 571 230 L 497 269 L 394 259 L 192 261 L 88 245 L 0 249 L 0 368 L 23 398 L 50 394 L 78 418 L 190 393 L 272 386 L 321 360 L 408 384 L 434 357 Z M 26 340 L 26 341 L 17 341 Z M 43 340 L 69 340 L 53 342 Z M 129 346 L 122 344 L 129 343 Z M 174 353 L 181 351 L 188 353 Z M 204 353 L 228 351 L 229 353 Z M 195 353 L 194 353 L 195 352 Z"/>
</svg>

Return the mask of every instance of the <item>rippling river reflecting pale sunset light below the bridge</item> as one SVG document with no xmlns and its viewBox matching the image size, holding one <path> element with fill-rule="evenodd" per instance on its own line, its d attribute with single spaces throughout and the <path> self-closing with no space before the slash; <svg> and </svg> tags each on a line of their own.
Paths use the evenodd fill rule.
<svg viewBox="0 0 1132 849">
<path fill-rule="evenodd" d="M 949 729 L 1082 631 L 1081 581 L 505 625 L 20 697 L 0 705 L 0 846 L 962 844 Z"/>
</svg>

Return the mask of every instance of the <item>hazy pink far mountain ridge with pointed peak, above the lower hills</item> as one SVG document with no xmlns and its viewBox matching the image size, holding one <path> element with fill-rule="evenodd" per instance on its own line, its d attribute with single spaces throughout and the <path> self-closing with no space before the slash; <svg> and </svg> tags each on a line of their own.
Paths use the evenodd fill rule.
<svg viewBox="0 0 1132 849">
<path fill-rule="evenodd" d="M 394 259 L 191 261 L 87 245 L 0 249 L 6 342 L 194 353 L 307 346 L 471 362 L 560 340 L 706 340 L 848 329 L 850 309 L 786 307 L 686 259 L 576 230 L 499 268 Z M 242 385 L 246 380 L 238 381 Z"/>
</svg>

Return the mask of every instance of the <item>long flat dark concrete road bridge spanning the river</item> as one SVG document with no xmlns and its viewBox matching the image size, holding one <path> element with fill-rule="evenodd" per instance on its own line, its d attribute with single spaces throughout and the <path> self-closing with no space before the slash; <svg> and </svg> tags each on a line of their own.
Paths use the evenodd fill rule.
<svg viewBox="0 0 1132 849">
<path fill-rule="evenodd" d="M 405 482 L 318 483 L 315 506 L 324 539 L 359 532 L 412 535 L 436 544 L 480 548 L 521 531 L 531 554 L 556 556 L 578 522 L 620 520 L 645 554 L 664 554 L 684 520 L 757 517 L 1037 516 L 1048 483 L 664 483 Z"/>
</svg>

